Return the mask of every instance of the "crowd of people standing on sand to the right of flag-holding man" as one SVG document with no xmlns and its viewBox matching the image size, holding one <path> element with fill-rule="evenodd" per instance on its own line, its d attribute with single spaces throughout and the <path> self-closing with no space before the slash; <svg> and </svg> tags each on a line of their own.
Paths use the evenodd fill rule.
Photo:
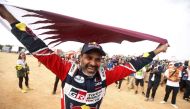
<svg viewBox="0 0 190 109">
<path fill-rule="evenodd" d="M 132 57 L 135 58 L 135 57 Z M 118 64 L 120 60 L 127 62 L 131 57 L 112 57 L 105 59 L 105 67 L 111 70 Z M 124 64 L 124 63 L 122 63 Z M 134 93 L 138 93 L 140 84 L 141 93 L 145 95 L 145 101 L 154 101 L 156 91 L 159 85 L 165 84 L 165 95 L 161 104 L 167 102 L 170 93 L 172 92 L 171 105 L 178 108 L 176 105 L 176 97 L 179 91 L 183 92 L 183 99 L 190 101 L 190 62 L 177 62 L 170 60 L 154 60 L 134 74 L 129 75 L 126 80 L 129 89 L 134 88 Z M 123 79 L 122 79 L 123 80 Z M 118 89 L 121 87 L 122 80 L 119 81 Z M 147 83 L 147 89 L 144 90 L 144 83 Z M 120 90 L 119 90 L 120 91 Z M 145 93 L 146 91 L 146 93 Z M 150 92 L 151 95 L 150 95 Z"/>
</svg>

